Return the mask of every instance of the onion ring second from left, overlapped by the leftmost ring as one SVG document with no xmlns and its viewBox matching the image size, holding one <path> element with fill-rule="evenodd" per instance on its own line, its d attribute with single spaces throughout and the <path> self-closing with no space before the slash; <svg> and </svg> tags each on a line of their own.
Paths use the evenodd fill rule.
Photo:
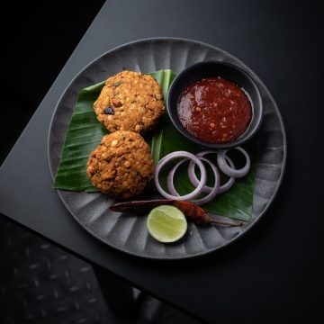
<svg viewBox="0 0 324 324">
<path fill-rule="evenodd" d="M 220 174 L 217 170 L 217 167 L 211 162 L 210 159 L 208 159 L 206 157 L 199 157 L 199 158 L 200 158 L 200 160 L 207 162 L 211 166 L 211 169 L 215 175 L 215 184 L 213 187 L 209 187 L 209 188 L 211 188 L 211 190 L 205 197 L 202 197 L 201 199 L 193 200 L 192 202 L 194 202 L 195 204 L 203 204 L 203 203 L 210 202 L 216 196 L 216 194 L 219 193 L 219 188 L 220 188 Z M 167 189 L 170 193 L 175 194 L 176 196 L 179 196 L 179 193 L 177 193 L 177 191 L 175 190 L 175 185 L 173 184 L 175 170 L 177 169 L 178 166 L 180 166 L 186 160 L 187 160 L 187 158 L 185 158 L 182 161 L 179 161 L 167 175 Z M 193 172 L 194 172 L 194 165 L 193 165 Z M 197 182 L 199 184 L 198 179 L 197 179 Z M 197 185 L 197 184 L 193 184 L 193 185 Z"/>
</svg>

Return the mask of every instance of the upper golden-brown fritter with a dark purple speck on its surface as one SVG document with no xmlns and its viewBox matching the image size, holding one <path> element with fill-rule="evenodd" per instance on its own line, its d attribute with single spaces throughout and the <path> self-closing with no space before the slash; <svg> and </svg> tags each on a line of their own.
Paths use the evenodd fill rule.
<svg viewBox="0 0 324 324">
<path fill-rule="evenodd" d="M 109 77 L 94 103 L 98 121 L 109 131 L 144 134 L 165 112 L 161 87 L 152 76 L 122 71 Z"/>
</svg>

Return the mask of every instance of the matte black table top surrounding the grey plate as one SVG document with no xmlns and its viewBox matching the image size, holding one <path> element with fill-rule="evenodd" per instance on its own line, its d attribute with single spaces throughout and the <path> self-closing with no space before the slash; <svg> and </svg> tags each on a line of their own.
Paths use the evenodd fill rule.
<svg viewBox="0 0 324 324">
<path fill-rule="evenodd" d="M 324 270 L 320 18 L 320 2 L 107 1 L 4 161 L 0 211 L 202 320 L 316 319 Z M 284 182 L 263 220 L 229 247 L 172 262 L 130 257 L 91 237 L 52 189 L 47 157 L 50 118 L 76 73 L 118 45 L 163 36 L 211 43 L 251 67 L 274 95 L 288 141 Z"/>
</svg>

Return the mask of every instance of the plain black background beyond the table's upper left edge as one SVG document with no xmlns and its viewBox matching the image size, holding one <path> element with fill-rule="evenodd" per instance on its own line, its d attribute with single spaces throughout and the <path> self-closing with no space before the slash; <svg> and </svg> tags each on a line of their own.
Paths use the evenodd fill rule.
<svg viewBox="0 0 324 324">
<path fill-rule="evenodd" d="M 103 4 L 103 0 L 6 4 L 7 19 L 1 23 L 5 90 L 0 165 Z"/>
</svg>

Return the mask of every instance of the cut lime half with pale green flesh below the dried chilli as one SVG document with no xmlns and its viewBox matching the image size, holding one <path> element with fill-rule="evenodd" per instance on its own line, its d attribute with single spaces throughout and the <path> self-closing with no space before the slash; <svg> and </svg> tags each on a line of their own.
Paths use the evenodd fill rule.
<svg viewBox="0 0 324 324">
<path fill-rule="evenodd" d="M 148 214 L 148 233 L 159 242 L 171 243 L 182 238 L 187 229 L 184 213 L 174 206 L 161 205 Z"/>
</svg>

